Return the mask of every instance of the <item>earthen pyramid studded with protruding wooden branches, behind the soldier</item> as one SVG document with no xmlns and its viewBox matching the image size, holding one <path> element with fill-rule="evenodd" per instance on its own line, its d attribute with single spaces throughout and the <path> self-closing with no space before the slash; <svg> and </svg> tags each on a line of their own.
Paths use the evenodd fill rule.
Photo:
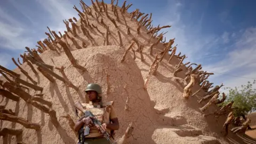
<svg viewBox="0 0 256 144">
<path fill-rule="evenodd" d="M 171 26 L 154 27 L 152 13 L 128 12 L 126 1 L 80 4 L 79 17 L 63 20 L 65 33 L 48 28 L 36 49 L 12 59 L 16 69 L 0 67 L 1 143 L 77 143 L 74 103 L 88 102 L 88 83 L 114 101 L 117 143 L 255 142 L 223 137 L 227 115 L 203 116 L 219 109 L 219 86 L 201 65 L 182 63 L 175 38 L 159 33 Z"/>
</svg>

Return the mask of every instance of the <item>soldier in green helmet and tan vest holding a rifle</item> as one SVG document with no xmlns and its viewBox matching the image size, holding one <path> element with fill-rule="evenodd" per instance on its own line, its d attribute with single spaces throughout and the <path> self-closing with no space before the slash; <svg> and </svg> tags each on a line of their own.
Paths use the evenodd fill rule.
<svg viewBox="0 0 256 144">
<path fill-rule="evenodd" d="M 114 142 L 114 131 L 119 129 L 119 122 L 116 115 L 115 108 L 112 106 L 113 101 L 102 102 L 102 90 L 101 86 L 95 83 L 87 85 L 85 92 L 89 98 L 89 103 L 82 103 L 85 110 L 90 110 L 92 114 L 101 122 L 102 127 L 110 133 L 110 139 Z M 90 143 L 109 143 L 109 141 L 103 137 L 103 134 L 93 124 L 92 117 L 80 118 L 84 114 L 82 111 L 78 111 L 78 120 L 74 126 L 76 132 L 78 132 L 78 143 L 90 144 Z M 89 135 L 84 135 L 85 126 L 90 127 Z"/>
</svg>

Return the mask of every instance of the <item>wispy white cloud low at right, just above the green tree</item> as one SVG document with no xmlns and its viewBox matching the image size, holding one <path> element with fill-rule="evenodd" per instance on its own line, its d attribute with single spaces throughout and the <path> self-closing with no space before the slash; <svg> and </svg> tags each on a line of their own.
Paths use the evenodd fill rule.
<svg viewBox="0 0 256 144">
<path fill-rule="evenodd" d="M 221 74 L 212 75 L 209 80 L 223 82 L 227 87 L 240 86 L 256 79 L 256 28 L 247 28 L 236 39 L 233 51 L 226 57 L 204 69 Z M 256 87 L 255 87 L 256 88 Z"/>
</svg>

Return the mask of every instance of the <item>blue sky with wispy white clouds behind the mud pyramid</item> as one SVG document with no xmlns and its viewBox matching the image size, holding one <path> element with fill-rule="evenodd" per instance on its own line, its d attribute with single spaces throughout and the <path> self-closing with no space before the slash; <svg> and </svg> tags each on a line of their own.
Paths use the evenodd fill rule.
<svg viewBox="0 0 256 144">
<path fill-rule="evenodd" d="M 214 72 L 209 77 L 214 85 L 234 87 L 256 79 L 256 1 L 126 2 L 130 3 L 129 12 L 138 8 L 153 13 L 154 26 L 171 25 L 164 29 L 169 31 L 166 38 L 175 37 L 177 51 L 188 57 L 185 62 L 200 63 L 203 70 Z M 17 59 L 25 46 L 33 48 L 46 38 L 47 26 L 63 33 L 63 19 L 79 18 L 73 5 L 81 9 L 78 0 L 1 1 L 0 65 L 15 68 L 11 58 Z"/>
</svg>

